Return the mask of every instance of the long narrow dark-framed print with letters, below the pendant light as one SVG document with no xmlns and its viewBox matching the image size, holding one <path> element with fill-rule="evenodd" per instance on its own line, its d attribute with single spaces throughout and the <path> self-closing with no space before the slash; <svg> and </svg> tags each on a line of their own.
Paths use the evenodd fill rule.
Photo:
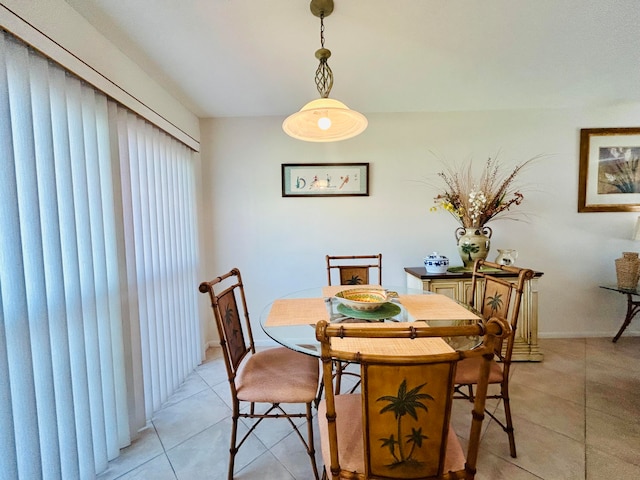
<svg viewBox="0 0 640 480">
<path fill-rule="evenodd" d="M 283 197 L 369 195 L 368 163 L 283 163 Z"/>
</svg>

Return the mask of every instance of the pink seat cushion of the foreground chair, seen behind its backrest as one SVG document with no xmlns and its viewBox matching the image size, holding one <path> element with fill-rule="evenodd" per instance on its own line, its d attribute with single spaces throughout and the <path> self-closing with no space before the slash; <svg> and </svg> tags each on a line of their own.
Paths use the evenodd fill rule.
<svg viewBox="0 0 640 480">
<path fill-rule="evenodd" d="M 338 433 L 338 458 L 340 468 L 349 472 L 364 473 L 364 446 L 362 434 L 362 395 L 336 395 L 336 430 Z M 318 405 L 318 426 L 320 445 L 325 469 L 329 474 L 331 450 L 329 448 L 329 427 L 327 422 L 327 405 L 322 400 Z M 465 456 L 453 428 L 449 428 L 447 437 L 447 456 L 445 471 L 463 470 Z"/>
</svg>

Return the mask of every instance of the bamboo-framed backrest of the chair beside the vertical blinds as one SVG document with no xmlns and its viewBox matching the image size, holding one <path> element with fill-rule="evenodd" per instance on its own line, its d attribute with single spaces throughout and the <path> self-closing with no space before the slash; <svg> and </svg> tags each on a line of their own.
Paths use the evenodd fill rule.
<svg viewBox="0 0 640 480">
<path fill-rule="evenodd" d="M 248 354 L 255 353 L 240 270 L 234 268 L 209 282 L 202 282 L 199 290 L 201 293 L 208 293 L 211 299 L 227 375 L 232 393 L 235 394 L 233 381 L 238 367 Z"/>
</svg>

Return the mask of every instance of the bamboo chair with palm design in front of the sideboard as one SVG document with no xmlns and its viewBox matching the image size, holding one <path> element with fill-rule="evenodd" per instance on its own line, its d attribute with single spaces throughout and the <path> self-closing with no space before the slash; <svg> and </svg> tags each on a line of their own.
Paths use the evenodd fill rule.
<svg viewBox="0 0 640 480">
<path fill-rule="evenodd" d="M 494 272 L 507 272 L 517 276 L 511 281 L 492 275 Z M 500 386 L 500 391 L 490 393 L 487 398 L 500 399 L 504 407 L 504 422 L 500 421 L 489 411 L 487 414 L 493 418 L 509 437 L 509 452 L 516 457 L 516 442 L 511 418 L 511 401 L 509 399 L 509 376 L 511 373 L 511 355 L 518 327 L 520 304 L 524 284 L 534 276 L 533 270 L 518 268 L 515 266 L 499 265 L 476 260 L 473 268 L 473 280 L 469 304 L 480 311 L 484 318 L 499 316 L 506 318 L 511 325 L 511 334 L 496 344 L 496 360 L 491 362 L 489 383 Z M 479 375 L 479 363 L 477 359 L 463 360 L 456 371 L 456 398 L 473 400 L 473 386 L 477 383 Z M 465 391 L 466 390 L 466 391 Z"/>
</svg>

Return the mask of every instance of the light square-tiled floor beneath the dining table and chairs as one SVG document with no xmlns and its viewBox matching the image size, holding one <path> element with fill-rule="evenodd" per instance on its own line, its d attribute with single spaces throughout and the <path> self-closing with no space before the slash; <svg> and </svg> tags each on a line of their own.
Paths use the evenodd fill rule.
<svg viewBox="0 0 640 480">
<path fill-rule="evenodd" d="M 487 421 L 476 478 L 640 478 L 640 337 L 623 336 L 616 344 L 610 338 L 541 339 L 540 346 L 543 362 L 512 369 L 518 457 L 509 456 L 506 434 Z M 226 478 L 229 386 L 217 349 L 208 353 L 99 480 Z M 493 407 L 501 413 L 501 405 Z M 453 424 L 463 443 L 469 411 L 467 402 L 454 402 Z M 235 470 L 235 478 L 246 480 L 312 478 L 302 445 L 280 420 L 258 427 L 240 449 Z"/>
</svg>

